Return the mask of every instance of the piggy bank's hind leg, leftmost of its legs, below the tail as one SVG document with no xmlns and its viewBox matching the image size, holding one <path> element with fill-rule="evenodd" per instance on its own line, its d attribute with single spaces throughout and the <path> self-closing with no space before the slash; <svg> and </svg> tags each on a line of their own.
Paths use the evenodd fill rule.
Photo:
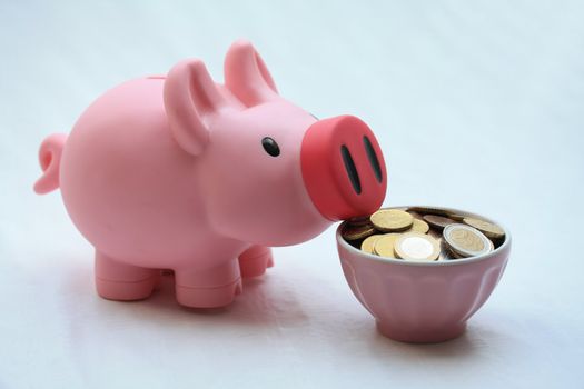
<svg viewBox="0 0 584 389">
<path fill-rule="evenodd" d="M 108 300 L 141 300 L 152 293 L 160 270 L 115 260 L 96 251 L 96 288 Z"/>
</svg>

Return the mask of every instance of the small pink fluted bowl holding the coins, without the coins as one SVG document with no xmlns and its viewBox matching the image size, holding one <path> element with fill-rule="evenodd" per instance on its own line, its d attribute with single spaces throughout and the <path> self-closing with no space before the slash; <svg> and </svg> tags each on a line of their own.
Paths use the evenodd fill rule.
<svg viewBox="0 0 584 389">
<path fill-rule="evenodd" d="M 505 241 L 484 256 L 435 262 L 382 258 L 347 243 L 340 236 L 344 225 L 337 228 L 337 249 L 350 290 L 375 317 L 379 332 L 406 342 L 439 342 L 462 335 L 498 283 L 511 251 L 511 235 L 502 227 Z"/>
</svg>

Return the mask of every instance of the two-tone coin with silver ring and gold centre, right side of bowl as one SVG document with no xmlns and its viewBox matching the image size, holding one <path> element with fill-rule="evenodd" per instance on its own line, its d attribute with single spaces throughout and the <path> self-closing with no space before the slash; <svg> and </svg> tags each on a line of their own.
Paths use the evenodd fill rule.
<svg viewBox="0 0 584 389">
<path fill-rule="evenodd" d="M 444 240 L 454 253 L 475 257 L 493 250 L 493 243 L 476 228 L 467 225 L 449 225 L 444 228 Z"/>
</svg>

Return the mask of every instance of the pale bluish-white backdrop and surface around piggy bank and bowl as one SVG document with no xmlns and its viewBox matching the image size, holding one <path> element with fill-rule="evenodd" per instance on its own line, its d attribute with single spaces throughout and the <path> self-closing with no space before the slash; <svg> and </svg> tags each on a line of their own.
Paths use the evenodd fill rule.
<svg viewBox="0 0 584 389">
<path fill-rule="evenodd" d="M 584 8 L 576 2 L 0 4 L 0 387 L 584 387 Z M 276 249 L 224 311 L 98 298 L 41 139 L 106 89 L 186 57 L 222 78 L 247 37 L 284 96 L 377 133 L 387 205 L 484 213 L 509 266 L 462 338 L 393 342 L 345 283 L 334 228 Z"/>
</svg>

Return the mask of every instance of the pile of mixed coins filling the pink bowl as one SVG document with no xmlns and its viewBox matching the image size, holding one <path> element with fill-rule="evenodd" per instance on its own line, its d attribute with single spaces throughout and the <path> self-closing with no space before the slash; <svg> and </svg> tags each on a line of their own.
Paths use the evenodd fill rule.
<svg viewBox="0 0 584 389">
<path fill-rule="evenodd" d="M 383 208 L 347 220 L 340 232 L 362 251 L 410 261 L 476 257 L 505 240 L 492 222 L 429 207 Z"/>
</svg>

